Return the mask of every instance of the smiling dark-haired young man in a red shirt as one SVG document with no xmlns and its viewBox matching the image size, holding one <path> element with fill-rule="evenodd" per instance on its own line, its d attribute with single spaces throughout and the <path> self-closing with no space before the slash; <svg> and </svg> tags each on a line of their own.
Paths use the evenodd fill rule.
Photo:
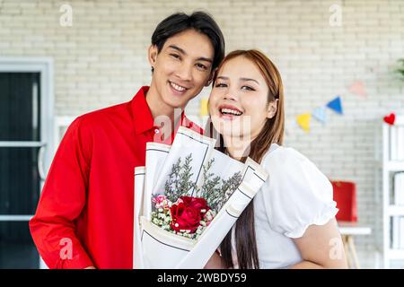
<svg viewBox="0 0 404 287">
<path fill-rule="evenodd" d="M 171 143 L 179 126 L 202 133 L 183 109 L 224 57 L 221 30 L 206 13 L 175 13 L 148 52 L 150 88 L 76 118 L 59 145 L 30 222 L 49 268 L 132 268 L 134 169 L 145 165 L 145 144 Z"/>
</svg>

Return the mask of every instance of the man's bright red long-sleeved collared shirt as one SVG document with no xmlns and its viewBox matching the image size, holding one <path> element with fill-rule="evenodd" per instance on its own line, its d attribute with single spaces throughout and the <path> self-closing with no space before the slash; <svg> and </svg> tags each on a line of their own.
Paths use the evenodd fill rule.
<svg viewBox="0 0 404 287">
<path fill-rule="evenodd" d="M 49 268 L 133 267 L 134 169 L 145 165 L 145 144 L 159 138 L 147 91 L 69 126 L 30 222 Z M 183 113 L 181 119 L 203 133 Z"/>
</svg>

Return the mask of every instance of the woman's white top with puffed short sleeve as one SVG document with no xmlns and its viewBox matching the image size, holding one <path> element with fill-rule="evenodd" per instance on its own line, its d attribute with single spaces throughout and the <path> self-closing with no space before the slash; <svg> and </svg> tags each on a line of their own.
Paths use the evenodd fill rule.
<svg viewBox="0 0 404 287">
<path fill-rule="evenodd" d="M 293 239 L 312 224 L 329 222 L 338 213 L 337 204 L 329 179 L 293 148 L 271 144 L 261 166 L 269 176 L 254 197 L 259 268 L 287 268 L 303 260 Z"/>
</svg>

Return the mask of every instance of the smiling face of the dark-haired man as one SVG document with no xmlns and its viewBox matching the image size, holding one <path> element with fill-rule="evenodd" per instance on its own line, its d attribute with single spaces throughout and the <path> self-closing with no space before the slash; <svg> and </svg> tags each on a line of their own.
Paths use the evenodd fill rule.
<svg viewBox="0 0 404 287">
<path fill-rule="evenodd" d="M 172 109 L 184 109 L 211 79 L 214 56 L 211 41 L 196 30 L 185 30 L 167 39 L 159 53 L 151 46 L 151 86 L 157 91 L 157 100 Z"/>
</svg>

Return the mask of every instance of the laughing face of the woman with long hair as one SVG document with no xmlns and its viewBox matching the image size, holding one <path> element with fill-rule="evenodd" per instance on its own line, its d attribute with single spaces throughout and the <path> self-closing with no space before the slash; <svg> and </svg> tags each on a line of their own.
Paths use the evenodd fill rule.
<svg viewBox="0 0 404 287">
<path fill-rule="evenodd" d="M 274 104 L 275 101 L 271 103 Z M 267 118 L 274 116 L 273 109 L 269 109 L 271 105 L 268 105 L 268 85 L 248 58 L 234 57 L 218 71 L 210 93 L 209 113 L 215 129 L 224 137 L 252 141 Z"/>
</svg>

